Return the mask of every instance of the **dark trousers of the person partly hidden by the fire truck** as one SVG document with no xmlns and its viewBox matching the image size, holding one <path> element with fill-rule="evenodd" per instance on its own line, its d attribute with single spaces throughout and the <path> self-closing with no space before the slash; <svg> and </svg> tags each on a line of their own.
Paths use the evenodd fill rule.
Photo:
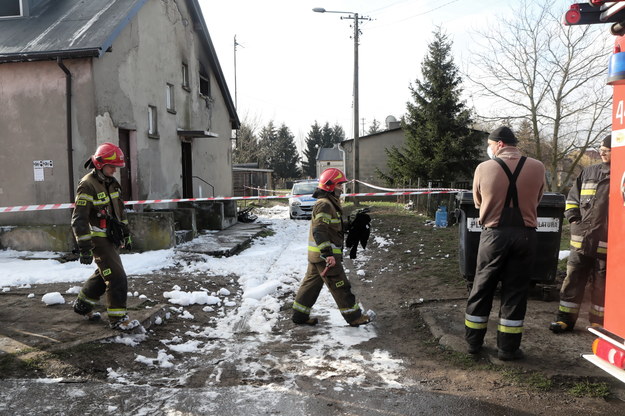
<svg viewBox="0 0 625 416">
<path fill-rule="evenodd" d="M 571 250 L 566 264 L 566 278 L 560 289 L 560 306 L 558 307 L 557 320 L 564 322 L 571 329 L 575 326 L 584 300 L 586 284 L 590 281 L 588 320 L 591 324 L 603 326 L 605 274 L 605 260 L 585 256 L 575 250 Z"/>
</svg>

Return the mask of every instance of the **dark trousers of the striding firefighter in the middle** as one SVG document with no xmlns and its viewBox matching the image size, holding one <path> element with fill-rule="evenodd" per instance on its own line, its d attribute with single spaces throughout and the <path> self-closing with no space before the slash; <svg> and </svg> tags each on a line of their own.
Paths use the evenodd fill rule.
<svg viewBox="0 0 625 416">
<path fill-rule="evenodd" d="M 356 296 L 352 293 L 351 285 L 345 275 L 343 264 L 337 261 L 336 265 L 328 270 L 326 276 L 322 277 L 321 272 L 325 266 L 325 262 L 308 262 L 306 275 L 297 291 L 295 302 L 293 302 L 293 321 L 303 322 L 310 317 L 310 310 L 317 302 L 324 283 L 330 290 L 347 323 L 355 321 L 362 315 L 360 305 L 356 302 Z"/>
</svg>

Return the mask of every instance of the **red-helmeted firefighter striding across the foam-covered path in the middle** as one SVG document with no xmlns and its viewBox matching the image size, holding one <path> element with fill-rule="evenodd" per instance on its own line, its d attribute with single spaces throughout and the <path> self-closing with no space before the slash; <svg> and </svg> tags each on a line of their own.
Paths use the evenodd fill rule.
<svg viewBox="0 0 625 416">
<path fill-rule="evenodd" d="M 345 182 L 341 170 L 326 169 L 313 193 L 317 202 L 308 235 L 308 269 L 293 302 L 292 319 L 296 324 L 317 324 L 310 311 L 324 283 L 348 324 L 359 326 L 370 321 L 370 315 L 363 313 L 356 302 L 342 265 L 344 226 L 339 196 L 340 185 Z"/>
</svg>

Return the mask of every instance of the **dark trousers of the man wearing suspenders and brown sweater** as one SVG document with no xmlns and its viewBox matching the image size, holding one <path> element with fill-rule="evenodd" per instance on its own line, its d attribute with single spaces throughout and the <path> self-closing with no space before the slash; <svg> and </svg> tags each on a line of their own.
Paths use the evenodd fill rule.
<svg viewBox="0 0 625 416">
<path fill-rule="evenodd" d="M 519 348 L 535 247 L 534 228 L 498 227 L 482 231 L 475 281 L 465 315 L 465 339 L 469 345 L 484 343 L 493 297 L 501 281 L 497 348 L 509 352 Z"/>
</svg>

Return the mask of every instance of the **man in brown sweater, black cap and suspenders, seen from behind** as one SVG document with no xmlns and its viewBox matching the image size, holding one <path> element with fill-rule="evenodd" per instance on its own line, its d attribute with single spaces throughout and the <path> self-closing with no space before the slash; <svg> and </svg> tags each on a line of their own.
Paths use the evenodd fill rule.
<svg viewBox="0 0 625 416">
<path fill-rule="evenodd" d="M 473 178 L 473 199 L 480 211 L 482 233 L 475 280 L 467 300 L 465 339 L 468 351 L 482 349 L 498 282 L 501 306 L 497 326 L 499 359 L 523 358 L 519 348 L 527 308 L 527 293 L 536 246 L 537 209 L 545 167 L 521 155 L 508 127 L 488 136 L 493 160 L 478 165 Z"/>
</svg>

